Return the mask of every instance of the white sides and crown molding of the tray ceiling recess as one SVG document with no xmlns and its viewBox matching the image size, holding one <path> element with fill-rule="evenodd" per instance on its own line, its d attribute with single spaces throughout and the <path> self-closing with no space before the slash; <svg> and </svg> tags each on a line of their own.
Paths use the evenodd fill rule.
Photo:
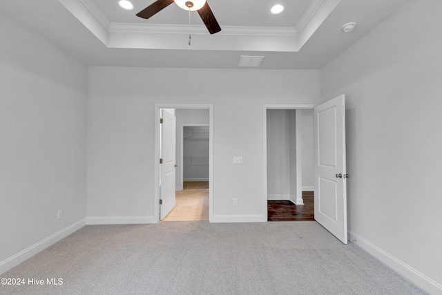
<svg viewBox="0 0 442 295">
<path fill-rule="evenodd" d="M 153 0 L 152 0 L 153 1 Z M 229 26 L 210 35 L 204 24 L 140 22 L 132 10 L 129 21 L 111 19 L 99 8 L 97 0 L 59 0 L 90 32 L 108 48 L 244 50 L 298 52 L 341 0 L 310 0 L 295 21 L 295 26 Z M 115 4 L 112 1 L 106 1 Z M 144 4 L 149 4 L 149 1 Z M 213 10 L 213 7 L 212 7 Z M 125 11 L 126 14 L 128 13 Z M 217 15 L 219 12 L 215 12 Z M 285 10 L 284 13 L 290 13 Z"/>
</svg>

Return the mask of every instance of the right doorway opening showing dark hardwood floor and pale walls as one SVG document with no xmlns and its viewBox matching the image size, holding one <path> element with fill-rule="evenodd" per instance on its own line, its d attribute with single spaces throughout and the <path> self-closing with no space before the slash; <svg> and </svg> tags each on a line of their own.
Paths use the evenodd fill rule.
<svg viewBox="0 0 442 295">
<path fill-rule="evenodd" d="M 314 220 L 313 109 L 265 106 L 267 221 Z"/>
</svg>

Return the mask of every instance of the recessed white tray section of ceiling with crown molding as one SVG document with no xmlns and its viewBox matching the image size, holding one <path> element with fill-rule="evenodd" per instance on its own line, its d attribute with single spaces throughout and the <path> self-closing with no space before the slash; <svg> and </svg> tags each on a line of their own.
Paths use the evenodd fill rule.
<svg viewBox="0 0 442 295">
<path fill-rule="evenodd" d="M 222 31 L 209 35 L 198 12 L 189 14 L 175 3 L 150 19 L 136 13 L 153 3 L 133 1 L 122 10 L 117 1 L 59 0 L 108 48 L 265 50 L 297 52 L 336 8 L 340 0 L 285 1 L 285 11 L 272 15 L 266 0 L 208 1 Z M 194 35 L 189 47 L 187 37 Z"/>
</svg>

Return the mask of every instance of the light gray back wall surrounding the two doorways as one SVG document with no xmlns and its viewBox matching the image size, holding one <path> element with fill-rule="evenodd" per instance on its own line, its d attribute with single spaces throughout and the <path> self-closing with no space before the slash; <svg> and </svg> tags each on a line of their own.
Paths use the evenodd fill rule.
<svg viewBox="0 0 442 295">
<path fill-rule="evenodd" d="M 320 96 L 318 70 L 90 67 L 88 77 L 87 215 L 99 221 L 153 222 L 155 103 L 213 104 L 214 220 L 267 220 L 263 104 Z"/>
</svg>

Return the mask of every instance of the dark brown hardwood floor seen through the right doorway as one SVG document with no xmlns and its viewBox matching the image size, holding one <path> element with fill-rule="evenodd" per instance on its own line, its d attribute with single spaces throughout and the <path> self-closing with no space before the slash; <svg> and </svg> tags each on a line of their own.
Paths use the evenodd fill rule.
<svg viewBox="0 0 442 295">
<path fill-rule="evenodd" d="M 314 192 L 302 191 L 304 205 L 296 206 L 289 200 L 267 201 L 268 221 L 314 220 Z"/>
</svg>

